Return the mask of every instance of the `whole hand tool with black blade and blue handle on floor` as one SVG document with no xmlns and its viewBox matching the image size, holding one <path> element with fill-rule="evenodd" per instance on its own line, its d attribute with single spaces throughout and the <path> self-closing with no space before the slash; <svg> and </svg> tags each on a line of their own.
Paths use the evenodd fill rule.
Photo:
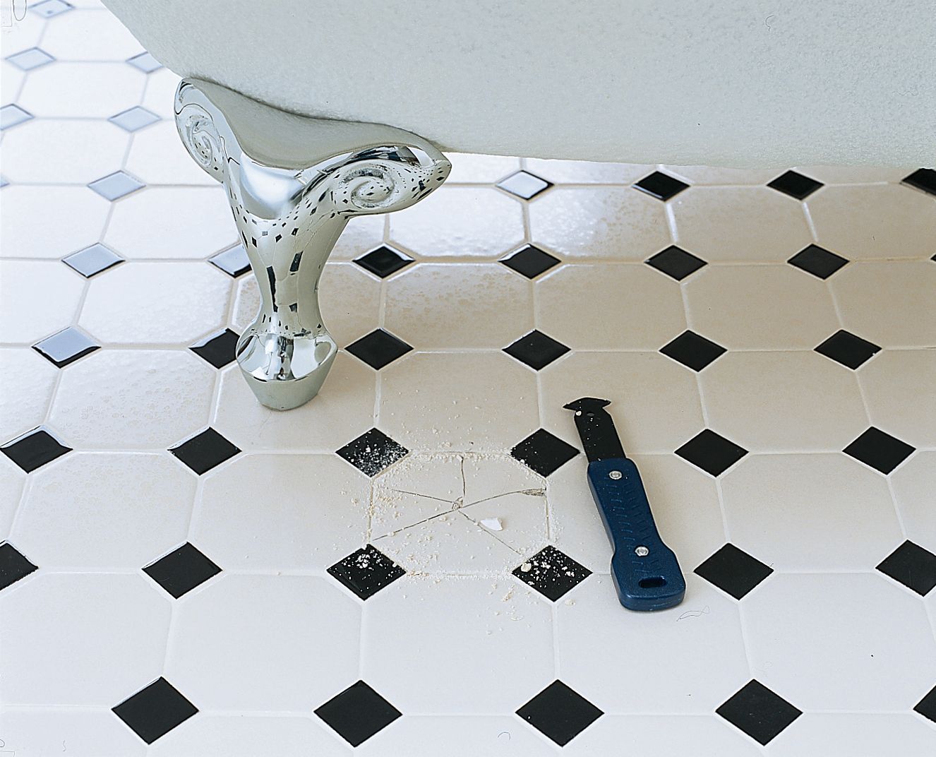
<svg viewBox="0 0 936 757">
<path fill-rule="evenodd" d="M 592 497 L 614 547 L 611 576 L 618 598 L 628 610 L 665 610 L 682 601 L 686 582 L 676 555 L 656 530 L 640 474 L 605 409 L 610 404 L 582 397 L 565 408 L 575 410 Z"/>
</svg>

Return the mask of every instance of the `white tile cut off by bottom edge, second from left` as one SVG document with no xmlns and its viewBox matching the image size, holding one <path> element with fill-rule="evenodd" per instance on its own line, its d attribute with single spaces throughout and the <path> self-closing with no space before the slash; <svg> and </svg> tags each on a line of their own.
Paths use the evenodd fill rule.
<svg viewBox="0 0 936 757">
<path fill-rule="evenodd" d="M 348 757 L 350 746 L 314 716 L 202 714 L 159 738 L 150 757 Z M 123 757 L 123 755 L 121 756 Z"/>
</svg>

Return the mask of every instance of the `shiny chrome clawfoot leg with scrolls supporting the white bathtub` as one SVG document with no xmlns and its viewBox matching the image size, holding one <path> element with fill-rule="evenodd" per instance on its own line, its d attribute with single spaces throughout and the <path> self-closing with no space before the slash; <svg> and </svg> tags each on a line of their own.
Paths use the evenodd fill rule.
<svg viewBox="0 0 936 757">
<path fill-rule="evenodd" d="M 451 165 L 430 142 L 391 126 L 305 118 L 210 82 L 185 79 L 176 126 L 227 190 L 260 289 L 237 361 L 268 408 L 312 399 L 338 351 L 318 307 L 318 280 L 352 215 L 426 197 Z"/>
</svg>

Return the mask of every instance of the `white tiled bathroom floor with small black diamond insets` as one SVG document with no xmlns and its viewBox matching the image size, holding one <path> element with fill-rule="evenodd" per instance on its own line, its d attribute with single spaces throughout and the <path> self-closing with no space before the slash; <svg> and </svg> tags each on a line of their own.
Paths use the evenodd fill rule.
<svg viewBox="0 0 936 757">
<path fill-rule="evenodd" d="M 177 78 L 95 2 L 29 5 L 0 37 L 0 755 L 936 753 L 933 172 L 452 156 L 351 222 L 344 349 L 277 413 L 232 363 L 256 287 Z M 675 609 L 617 601 L 583 395 Z"/>
</svg>

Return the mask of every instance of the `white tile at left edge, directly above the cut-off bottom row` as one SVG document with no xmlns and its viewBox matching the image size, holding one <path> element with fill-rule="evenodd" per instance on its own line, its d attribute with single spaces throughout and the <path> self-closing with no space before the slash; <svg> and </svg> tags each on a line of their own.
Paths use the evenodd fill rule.
<svg viewBox="0 0 936 757">
<path fill-rule="evenodd" d="M 110 708 L 159 677 L 169 603 L 144 582 L 59 573 L 7 589 L 0 597 L 4 702 Z"/>
</svg>

